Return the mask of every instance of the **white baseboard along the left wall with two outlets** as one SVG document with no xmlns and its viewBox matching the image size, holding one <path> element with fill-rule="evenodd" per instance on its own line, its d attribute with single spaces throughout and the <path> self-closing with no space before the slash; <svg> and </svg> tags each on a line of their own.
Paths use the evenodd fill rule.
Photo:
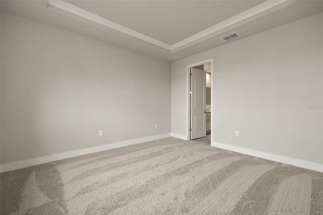
<svg viewBox="0 0 323 215">
<path fill-rule="evenodd" d="M 79 149 L 75 151 L 68 151 L 68 152 L 63 152 L 59 154 L 51 154 L 43 157 L 36 157 L 32 159 L 27 159 L 27 160 L 21 160 L 19 162 L 13 162 L 13 163 L 8 163 L 8 164 L 3 164 L 0 166 L 0 172 L 7 172 L 7 171 L 12 171 L 12 170 L 18 170 L 21 168 L 25 167 L 31 167 L 39 164 L 44 164 L 48 162 L 53 162 L 55 160 L 61 160 L 65 158 L 70 158 L 70 157 L 75 157 L 75 156 L 80 156 L 84 154 L 90 154 L 94 152 L 99 152 L 99 151 L 104 151 L 108 149 L 113 149 L 113 148 L 119 148 L 127 145 L 133 145 L 137 143 L 142 143 L 142 142 L 147 142 L 147 141 L 152 141 L 152 140 L 157 140 L 161 138 L 166 138 L 170 137 L 170 133 L 166 134 L 160 134 L 156 136 L 149 136 L 149 137 L 143 137 L 139 139 L 133 139 L 133 140 L 127 140 L 123 142 L 117 142 L 117 143 L 111 143 L 111 144 L 106 144 L 106 145 L 101 145 L 101 146 L 96 146 L 96 147 L 91 147 L 91 148 L 84 148 L 84 149 Z"/>
</svg>

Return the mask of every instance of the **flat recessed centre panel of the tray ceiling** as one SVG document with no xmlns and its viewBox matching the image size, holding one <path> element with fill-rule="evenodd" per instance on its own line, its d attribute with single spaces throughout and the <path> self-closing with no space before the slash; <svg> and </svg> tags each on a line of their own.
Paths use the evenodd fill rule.
<svg viewBox="0 0 323 215">
<path fill-rule="evenodd" d="M 264 1 L 66 1 L 172 45 Z"/>
</svg>

